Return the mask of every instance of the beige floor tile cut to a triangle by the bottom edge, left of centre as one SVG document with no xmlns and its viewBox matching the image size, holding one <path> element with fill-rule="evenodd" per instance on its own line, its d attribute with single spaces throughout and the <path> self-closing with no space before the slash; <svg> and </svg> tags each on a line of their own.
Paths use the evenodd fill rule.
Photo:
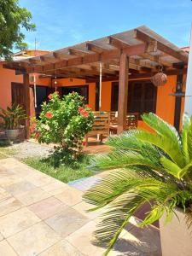
<svg viewBox="0 0 192 256">
<path fill-rule="evenodd" d="M 40 253 L 39 256 L 83 256 L 83 254 L 68 241 L 62 240 L 43 253 Z"/>
</svg>

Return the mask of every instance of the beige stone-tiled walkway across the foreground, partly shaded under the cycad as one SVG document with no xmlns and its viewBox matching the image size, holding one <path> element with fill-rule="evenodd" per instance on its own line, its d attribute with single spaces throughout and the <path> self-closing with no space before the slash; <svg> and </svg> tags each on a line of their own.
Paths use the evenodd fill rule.
<svg viewBox="0 0 192 256">
<path fill-rule="evenodd" d="M 14 158 L 0 160 L 0 255 L 102 255 L 104 249 L 92 242 L 101 211 L 85 212 L 90 206 L 82 195 Z M 158 230 L 131 228 L 110 256 L 161 255 Z"/>
</svg>

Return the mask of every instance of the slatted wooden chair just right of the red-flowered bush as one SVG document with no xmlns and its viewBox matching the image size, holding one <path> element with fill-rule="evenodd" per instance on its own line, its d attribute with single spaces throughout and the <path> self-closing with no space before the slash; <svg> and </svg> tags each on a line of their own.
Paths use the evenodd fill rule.
<svg viewBox="0 0 192 256">
<path fill-rule="evenodd" d="M 88 145 L 88 138 L 96 135 L 100 135 L 100 141 L 102 143 L 103 135 L 108 137 L 109 136 L 109 123 L 110 117 L 109 114 L 102 111 L 94 112 L 94 124 L 92 126 L 92 130 L 89 131 L 86 136 L 86 147 Z"/>
</svg>

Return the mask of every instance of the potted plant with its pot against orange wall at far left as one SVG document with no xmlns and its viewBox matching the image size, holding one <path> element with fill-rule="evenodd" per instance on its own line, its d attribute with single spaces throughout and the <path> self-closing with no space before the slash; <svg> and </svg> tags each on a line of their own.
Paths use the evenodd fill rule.
<svg viewBox="0 0 192 256">
<path fill-rule="evenodd" d="M 20 133 L 20 121 L 26 119 L 24 108 L 16 104 L 7 109 L 0 108 L 0 117 L 3 119 L 6 136 L 10 140 L 15 140 Z"/>
</svg>

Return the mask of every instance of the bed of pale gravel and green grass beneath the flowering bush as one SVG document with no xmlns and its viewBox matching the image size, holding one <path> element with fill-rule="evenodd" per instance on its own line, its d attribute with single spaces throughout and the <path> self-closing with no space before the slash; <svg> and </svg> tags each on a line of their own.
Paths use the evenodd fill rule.
<svg viewBox="0 0 192 256">
<path fill-rule="evenodd" d="M 49 154 L 51 152 L 52 148 L 26 141 L 24 143 L 15 143 L 8 147 L 0 147 L 0 159 L 14 156 L 17 160 L 26 163 L 27 166 L 55 177 L 63 183 L 94 175 L 86 167 L 89 164 L 90 156 L 84 155 L 76 166 L 53 166 L 49 162 Z"/>
</svg>

